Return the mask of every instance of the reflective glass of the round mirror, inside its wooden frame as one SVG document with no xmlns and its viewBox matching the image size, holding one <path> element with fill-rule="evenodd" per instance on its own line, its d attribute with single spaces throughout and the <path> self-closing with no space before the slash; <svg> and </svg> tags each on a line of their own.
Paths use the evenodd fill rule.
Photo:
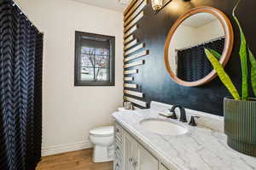
<svg viewBox="0 0 256 170">
<path fill-rule="evenodd" d="M 185 82 L 195 82 L 212 71 L 204 48 L 222 54 L 224 28 L 218 18 L 209 13 L 197 13 L 183 20 L 174 32 L 169 46 L 172 72 Z"/>
</svg>

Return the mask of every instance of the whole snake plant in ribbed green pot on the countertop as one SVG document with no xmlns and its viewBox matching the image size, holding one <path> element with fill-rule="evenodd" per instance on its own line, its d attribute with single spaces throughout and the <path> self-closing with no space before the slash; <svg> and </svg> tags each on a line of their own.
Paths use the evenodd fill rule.
<svg viewBox="0 0 256 170">
<path fill-rule="evenodd" d="M 239 51 L 242 71 L 241 96 L 228 74 L 224 71 L 223 65 L 218 62 L 221 54 L 209 48 L 205 48 L 205 53 L 213 69 L 218 73 L 221 82 L 224 83 L 224 86 L 232 95 L 232 98 L 224 98 L 224 133 L 228 136 L 227 143 L 234 150 L 248 156 L 256 156 L 256 59 L 250 48 L 247 47 L 246 37 L 236 17 L 236 8 L 240 1 L 236 3 L 233 9 L 233 18 L 236 20 L 241 35 Z M 248 71 L 247 60 L 250 61 L 250 72 Z M 249 77 L 254 98 L 249 97 L 248 93 Z"/>
</svg>

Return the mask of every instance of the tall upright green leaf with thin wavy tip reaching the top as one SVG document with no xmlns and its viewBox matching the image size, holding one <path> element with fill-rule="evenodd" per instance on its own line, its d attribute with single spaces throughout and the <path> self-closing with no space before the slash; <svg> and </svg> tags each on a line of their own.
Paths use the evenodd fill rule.
<svg viewBox="0 0 256 170">
<path fill-rule="evenodd" d="M 248 82 L 247 82 L 247 77 L 248 77 L 248 70 L 247 70 L 247 41 L 245 38 L 245 35 L 241 29 L 241 24 L 236 17 L 236 8 L 239 5 L 241 0 L 238 0 L 236 3 L 235 8 L 233 9 L 233 17 L 236 20 L 236 24 L 239 27 L 240 35 L 241 35 L 241 44 L 240 44 L 240 50 L 239 50 L 239 55 L 240 55 L 240 60 L 241 60 L 241 72 L 242 72 L 242 97 L 241 99 L 247 99 L 248 98 Z"/>
</svg>

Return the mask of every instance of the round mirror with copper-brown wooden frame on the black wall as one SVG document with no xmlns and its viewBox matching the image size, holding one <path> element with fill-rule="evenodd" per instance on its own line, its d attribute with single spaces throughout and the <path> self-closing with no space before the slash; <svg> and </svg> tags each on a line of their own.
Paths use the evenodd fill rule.
<svg viewBox="0 0 256 170">
<path fill-rule="evenodd" d="M 214 52 L 226 65 L 233 48 L 234 33 L 230 20 L 217 8 L 199 7 L 183 14 L 166 38 L 165 65 L 180 85 L 195 87 L 217 76 L 204 49 Z"/>
</svg>

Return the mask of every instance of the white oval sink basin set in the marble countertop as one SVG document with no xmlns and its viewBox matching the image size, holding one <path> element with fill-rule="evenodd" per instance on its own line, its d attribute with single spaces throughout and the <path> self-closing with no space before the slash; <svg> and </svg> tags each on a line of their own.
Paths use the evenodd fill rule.
<svg viewBox="0 0 256 170">
<path fill-rule="evenodd" d="M 178 125 L 177 122 L 166 122 L 160 119 L 148 119 L 140 122 L 140 126 L 143 129 L 164 135 L 177 136 L 188 133 L 188 128 Z"/>
</svg>

